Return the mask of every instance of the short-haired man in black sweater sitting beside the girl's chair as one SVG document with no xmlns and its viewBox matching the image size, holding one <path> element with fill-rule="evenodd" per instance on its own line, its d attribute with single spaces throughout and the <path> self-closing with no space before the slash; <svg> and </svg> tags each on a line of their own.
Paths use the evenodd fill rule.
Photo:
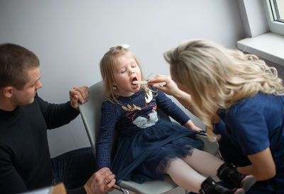
<svg viewBox="0 0 284 194">
<path fill-rule="evenodd" d="M 90 148 L 50 159 L 47 129 L 76 118 L 78 101 L 88 100 L 89 89 L 71 89 L 67 103 L 43 101 L 37 94 L 42 87 L 39 64 L 24 47 L 0 45 L 0 193 L 22 193 L 58 182 L 72 188 L 68 193 L 107 193 L 114 186 L 114 174 L 107 168 L 94 173 Z M 74 188 L 73 183 L 81 185 Z"/>
</svg>

